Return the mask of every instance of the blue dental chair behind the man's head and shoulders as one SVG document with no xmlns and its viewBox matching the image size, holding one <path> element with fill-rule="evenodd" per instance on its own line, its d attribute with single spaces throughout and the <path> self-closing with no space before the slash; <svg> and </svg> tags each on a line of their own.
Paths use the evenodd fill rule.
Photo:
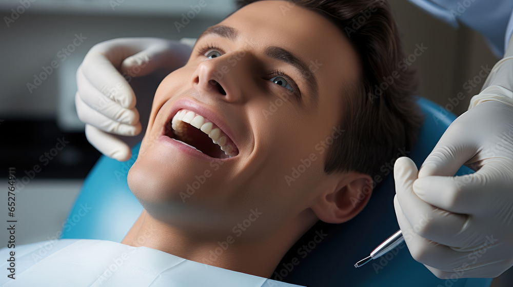
<svg viewBox="0 0 513 287">
<path fill-rule="evenodd" d="M 425 114 L 425 122 L 416 147 L 407 156 L 420 167 L 456 117 L 444 113 L 443 108 L 427 99 L 419 98 L 418 104 Z M 127 173 L 139 147 L 133 148 L 132 158 L 126 162 L 106 156 L 97 161 L 84 181 L 67 224 L 63 225 L 62 238 L 122 241 L 143 211 L 127 184 Z M 457 174 L 471 172 L 462 167 Z M 491 284 L 491 278 L 438 279 L 411 257 L 405 243 L 361 268 L 354 268 L 354 263 L 367 257 L 399 229 L 393 208 L 394 195 L 393 176 L 389 175 L 355 218 L 341 224 L 319 221 L 288 251 L 271 279 L 309 287 L 488 287 Z"/>
</svg>

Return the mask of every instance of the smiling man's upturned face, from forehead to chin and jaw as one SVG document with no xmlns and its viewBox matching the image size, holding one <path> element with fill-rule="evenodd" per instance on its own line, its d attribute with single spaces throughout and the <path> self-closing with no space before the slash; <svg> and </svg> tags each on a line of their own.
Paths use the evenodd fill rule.
<svg viewBox="0 0 513 287">
<path fill-rule="evenodd" d="M 359 79 L 358 56 L 327 19 L 285 1 L 250 4 L 213 27 L 157 89 L 128 183 L 173 226 L 232 234 L 249 217 L 245 232 L 262 235 L 328 188 L 324 157 L 344 137 L 342 88 Z M 192 140 L 179 137 L 169 121 L 181 109 L 220 127 L 236 155 L 223 158 L 190 124 L 181 125 Z"/>
</svg>

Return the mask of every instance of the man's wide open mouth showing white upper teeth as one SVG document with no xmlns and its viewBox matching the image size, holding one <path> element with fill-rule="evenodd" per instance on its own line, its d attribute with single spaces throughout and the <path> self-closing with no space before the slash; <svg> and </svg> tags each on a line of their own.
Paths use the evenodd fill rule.
<svg viewBox="0 0 513 287">
<path fill-rule="evenodd" d="M 233 140 L 212 121 L 186 109 L 176 112 L 166 124 L 164 135 L 212 158 L 230 158 L 239 154 Z"/>
</svg>

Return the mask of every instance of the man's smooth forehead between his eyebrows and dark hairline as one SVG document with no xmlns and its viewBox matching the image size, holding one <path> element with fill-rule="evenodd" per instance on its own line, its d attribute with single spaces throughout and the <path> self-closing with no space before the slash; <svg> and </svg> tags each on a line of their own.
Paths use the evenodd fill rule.
<svg viewBox="0 0 513 287">
<path fill-rule="evenodd" d="M 282 0 L 257 1 L 219 25 L 238 29 L 240 41 L 258 51 L 278 46 L 301 58 L 318 79 L 321 94 L 359 79 L 358 55 L 347 36 L 308 8 Z"/>
</svg>

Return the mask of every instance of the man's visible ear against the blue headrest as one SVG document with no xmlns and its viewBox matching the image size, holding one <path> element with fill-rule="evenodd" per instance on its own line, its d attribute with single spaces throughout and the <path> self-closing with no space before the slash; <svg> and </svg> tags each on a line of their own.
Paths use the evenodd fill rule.
<svg viewBox="0 0 513 287">
<path fill-rule="evenodd" d="M 333 176 L 333 185 L 315 198 L 311 209 L 324 222 L 342 223 L 366 206 L 372 193 L 372 178 L 359 172 Z"/>
</svg>

